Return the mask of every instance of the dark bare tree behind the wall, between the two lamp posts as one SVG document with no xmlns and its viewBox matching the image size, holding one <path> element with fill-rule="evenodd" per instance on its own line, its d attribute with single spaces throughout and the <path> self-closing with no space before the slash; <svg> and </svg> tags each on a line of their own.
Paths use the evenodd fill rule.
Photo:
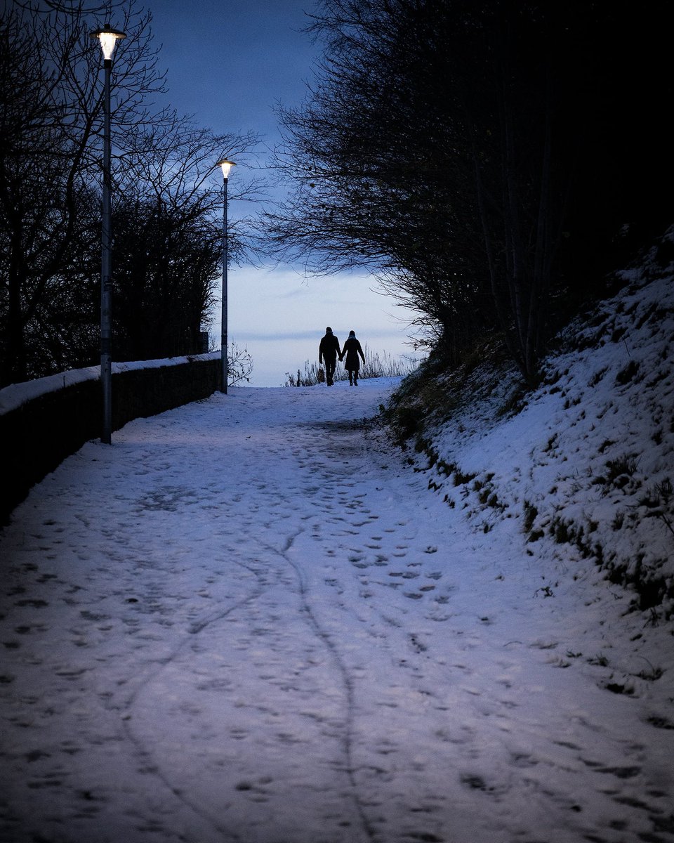
<svg viewBox="0 0 674 843">
<path fill-rule="evenodd" d="M 245 158 L 256 138 L 215 136 L 176 120 L 135 133 L 115 205 L 115 357 L 194 353 L 222 270 L 222 179 L 214 163 Z M 238 178 L 233 199 L 253 199 Z M 228 233 L 233 260 L 248 254 L 245 220 Z"/>
</svg>

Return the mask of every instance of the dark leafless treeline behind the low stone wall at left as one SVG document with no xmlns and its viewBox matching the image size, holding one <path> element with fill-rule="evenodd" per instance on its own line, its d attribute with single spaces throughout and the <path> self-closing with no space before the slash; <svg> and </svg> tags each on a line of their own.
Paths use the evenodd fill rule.
<svg viewBox="0 0 674 843">
<path fill-rule="evenodd" d="M 99 359 L 103 72 L 89 33 L 108 20 L 76 7 L 9 2 L 0 16 L 0 386 Z M 153 105 L 150 15 L 132 0 L 113 10 L 126 32 L 112 72 L 113 358 L 193 353 L 222 266 L 214 164 L 254 137 Z M 237 180 L 230 196 L 253 190 Z M 234 226 L 234 259 L 243 239 Z"/>
</svg>

